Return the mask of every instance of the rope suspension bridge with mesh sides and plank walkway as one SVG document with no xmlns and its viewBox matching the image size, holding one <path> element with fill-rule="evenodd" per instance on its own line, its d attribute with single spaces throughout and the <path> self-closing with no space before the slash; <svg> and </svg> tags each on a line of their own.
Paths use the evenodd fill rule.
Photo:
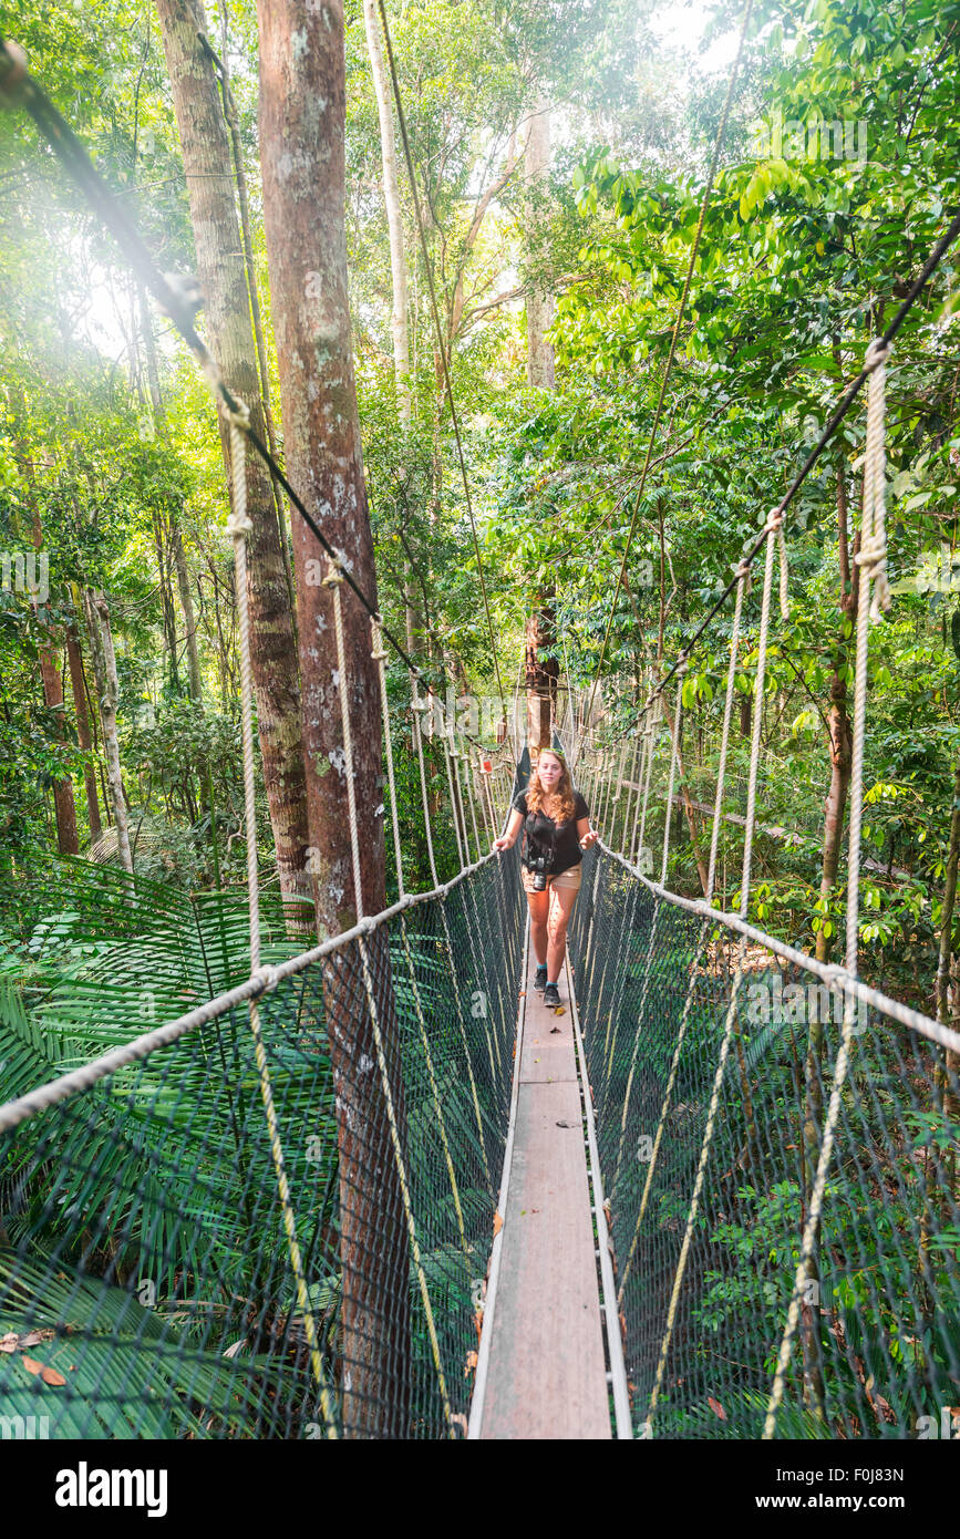
<svg viewBox="0 0 960 1539">
<path fill-rule="evenodd" d="M 231 426 L 252 831 L 245 465 L 249 445 L 269 451 L 178 294 L 65 145 Z M 366 609 L 380 676 L 400 896 L 377 914 L 360 903 L 354 928 L 300 953 L 260 900 L 254 839 L 246 903 L 226 920 L 168 899 L 165 925 L 146 925 L 157 894 L 125 873 L 88 896 L 105 946 L 83 990 L 131 1037 L 91 1056 L 62 1010 L 72 1067 L 0 1107 L 6 1417 L 85 1439 L 903 1439 L 957 1400 L 960 1034 L 857 974 L 866 648 L 886 602 L 883 382 L 906 308 L 711 614 L 648 680 L 638 722 L 615 725 L 597 689 L 603 659 L 586 699 L 565 694 L 557 743 L 602 840 L 585 854 L 558 1013 L 531 986 L 515 854 L 491 853 L 528 760 L 512 743 L 482 759 L 445 733 L 446 806 L 431 806 L 417 671 L 391 713 L 386 646 L 409 659 L 328 548 L 355 891 L 369 810 L 352 799 L 348 602 Z M 714 883 L 751 576 L 762 702 L 777 568 L 782 613 L 789 603 L 786 508 L 863 386 L 846 954 L 823 965 L 748 923 L 760 708 L 735 911 L 717 906 Z M 666 885 L 683 674 L 731 597 L 709 874 L 691 899 Z M 403 886 L 400 733 L 420 777 L 423 893 Z M 440 816 L 458 851 L 448 882 Z M 51 880 L 63 897 L 78 877 Z M 134 1033 L 143 979 L 168 1019 Z M 23 1063 L 31 1031 L 25 1017 Z"/>
</svg>

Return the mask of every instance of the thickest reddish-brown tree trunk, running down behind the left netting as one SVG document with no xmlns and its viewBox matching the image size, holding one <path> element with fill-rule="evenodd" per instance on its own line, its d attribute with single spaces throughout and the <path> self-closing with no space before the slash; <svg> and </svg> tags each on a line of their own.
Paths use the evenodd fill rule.
<svg viewBox="0 0 960 1539">
<path fill-rule="evenodd" d="M 354 579 L 375 599 L 354 389 L 345 232 L 343 5 L 305 11 L 298 0 L 262 0 L 260 143 L 263 209 L 278 339 L 280 396 L 289 476 Z M 309 274 L 309 282 L 305 275 Z M 326 557 L 294 516 L 297 614 L 303 674 L 308 810 L 320 934 L 351 925 L 354 890 L 340 689 L 348 691 L 360 820 L 363 908 L 386 903 L 380 803 L 380 696 L 369 619 L 342 586 L 346 674 L 332 649 L 332 594 L 320 586 Z M 375 1003 L 400 1139 L 403 1103 L 385 930 L 368 942 Z M 326 1023 L 340 1108 L 340 1254 L 348 1434 L 409 1433 L 409 1262 L 402 1193 L 372 1022 L 357 973 L 357 946 L 325 974 Z"/>
</svg>

